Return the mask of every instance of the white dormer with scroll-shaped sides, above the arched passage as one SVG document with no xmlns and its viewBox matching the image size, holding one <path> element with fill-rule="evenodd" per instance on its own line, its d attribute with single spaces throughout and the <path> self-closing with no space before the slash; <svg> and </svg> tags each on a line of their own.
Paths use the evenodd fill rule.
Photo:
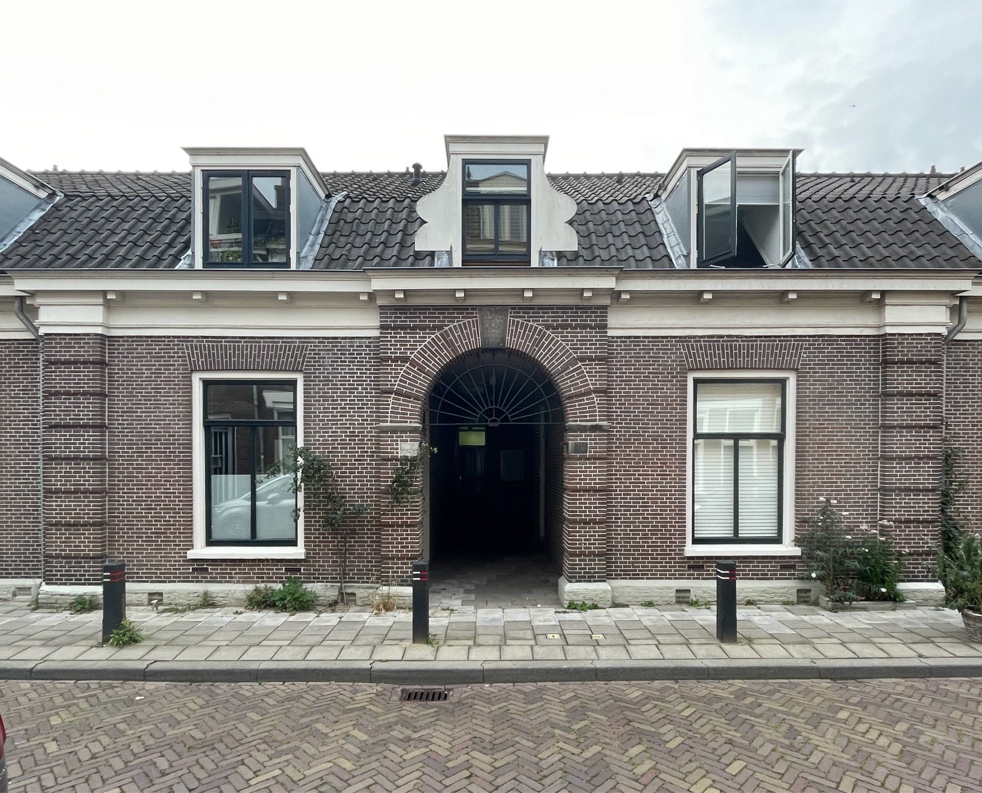
<svg viewBox="0 0 982 793">
<path fill-rule="evenodd" d="M 416 202 L 415 249 L 437 262 L 539 266 L 574 252 L 576 211 L 545 173 L 548 135 L 445 135 L 447 176 Z"/>
</svg>

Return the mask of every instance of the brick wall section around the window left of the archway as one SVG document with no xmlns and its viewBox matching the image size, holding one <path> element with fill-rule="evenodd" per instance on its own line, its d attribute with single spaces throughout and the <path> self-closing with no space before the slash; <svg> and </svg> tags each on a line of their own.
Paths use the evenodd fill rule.
<svg viewBox="0 0 982 793">
<path fill-rule="evenodd" d="M 232 368 L 256 343 L 212 340 L 211 370 Z M 374 339 L 290 340 L 266 344 L 257 369 L 296 369 L 303 355 L 303 441 L 336 465 L 342 491 L 369 513 L 355 521 L 349 580 L 378 580 L 380 485 L 375 458 L 377 366 Z M 200 345 L 196 347 L 199 349 Z M 304 516 L 307 558 L 194 560 L 191 505 L 191 370 L 188 340 L 111 338 L 109 378 L 110 553 L 140 581 L 276 581 L 300 569 L 308 580 L 337 580 L 338 543 Z M 216 357 L 217 355 L 217 357 Z M 196 358 L 192 360 L 198 360 Z M 200 365 L 200 364 L 199 364 Z M 359 384 L 361 387 L 359 387 Z"/>
</svg>

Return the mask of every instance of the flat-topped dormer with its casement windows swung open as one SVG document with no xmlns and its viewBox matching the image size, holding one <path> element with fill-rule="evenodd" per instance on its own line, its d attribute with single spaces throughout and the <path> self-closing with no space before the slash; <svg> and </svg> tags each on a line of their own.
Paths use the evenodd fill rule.
<svg viewBox="0 0 982 793">
<path fill-rule="evenodd" d="M 784 267 L 800 149 L 684 149 L 654 205 L 677 267 Z"/>
</svg>

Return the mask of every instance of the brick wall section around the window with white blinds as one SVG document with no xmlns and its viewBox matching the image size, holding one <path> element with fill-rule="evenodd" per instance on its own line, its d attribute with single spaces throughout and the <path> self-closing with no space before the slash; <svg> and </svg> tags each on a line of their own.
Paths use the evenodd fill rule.
<svg viewBox="0 0 982 793">
<path fill-rule="evenodd" d="M 738 362 L 754 340 L 702 339 L 699 356 L 678 338 L 612 337 L 610 578 L 701 575 L 686 558 L 685 460 L 688 367 Z M 847 520 L 873 525 L 877 515 L 880 340 L 793 337 L 757 340 L 743 365 L 797 369 L 795 517 L 803 530 L 823 496 L 837 498 Z M 797 357 L 791 358 L 793 349 Z M 699 361 L 702 363 L 699 363 Z M 793 577 L 788 557 L 740 557 L 741 574 Z"/>
</svg>

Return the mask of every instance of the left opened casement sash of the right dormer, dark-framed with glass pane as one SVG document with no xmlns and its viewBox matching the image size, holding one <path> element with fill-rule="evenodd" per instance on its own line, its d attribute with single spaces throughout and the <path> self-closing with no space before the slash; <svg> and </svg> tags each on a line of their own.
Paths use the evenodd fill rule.
<svg viewBox="0 0 982 793">
<path fill-rule="evenodd" d="M 698 266 L 736 256 L 736 151 L 699 169 L 696 244 Z"/>
</svg>

